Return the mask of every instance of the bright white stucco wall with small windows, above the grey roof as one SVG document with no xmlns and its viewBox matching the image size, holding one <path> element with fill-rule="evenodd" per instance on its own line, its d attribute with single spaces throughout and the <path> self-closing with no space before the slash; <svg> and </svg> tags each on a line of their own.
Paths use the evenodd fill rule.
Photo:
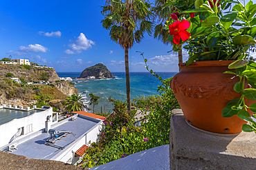
<svg viewBox="0 0 256 170">
<path fill-rule="evenodd" d="M 20 110 L 20 109 L 17 109 L 17 110 Z M 21 127 L 23 127 L 24 129 L 23 130 L 24 135 L 17 137 L 16 140 L 24 138 L 29 134 L 31 134 L 32 132 L 39 131 L 40 129 L 44 129 L 46 117 L 51 115 L 51 121 L 52 121 L 52 117 L 53 117 L 52 114 L 53 114 L 53 108 L 50 107 L 49 109 L 46 109 L 44 111 L 36 112 L 24 118 L 15 118 L 14 120 L 11 120 L 8 123 L 0 125 L 0 136 L 1 136 L 0 147 L 3 147 L 4 145 L 8 145 L 12 136 L 14 136 L 17 133 L 18 129 Z M 28 125 L 30 125 L 30 128 L 32 125 L 32 131 L 30 131 L 29 133 L 27 133 Z M 15 142 L 15 140 L 12 142 Z"/>
</svg>

